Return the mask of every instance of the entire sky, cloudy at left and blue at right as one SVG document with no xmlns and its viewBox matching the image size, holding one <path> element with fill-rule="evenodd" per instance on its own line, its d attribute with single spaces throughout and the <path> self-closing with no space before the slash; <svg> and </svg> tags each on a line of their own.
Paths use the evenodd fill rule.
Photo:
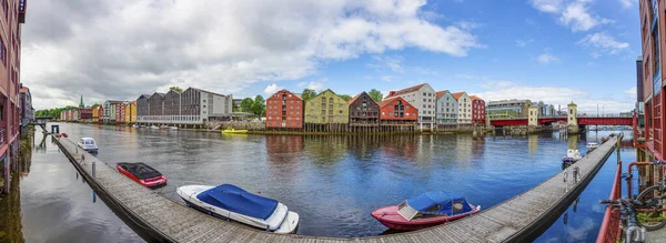
<svg viewBox="0 0 666 243">
<path fill-rule="evenodd" d="M 420 83 L 582 112 L 635 105 L 637 0 L 42 0 L 22 27 L 36 109 L 169 87 L 234 98 Z"/>
</svg>

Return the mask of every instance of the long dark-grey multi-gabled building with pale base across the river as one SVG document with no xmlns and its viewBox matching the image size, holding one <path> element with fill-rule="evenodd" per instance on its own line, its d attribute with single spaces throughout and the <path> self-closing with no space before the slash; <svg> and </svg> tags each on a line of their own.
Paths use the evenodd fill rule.
<svg viewBox="0 0 666 243">
<path fill-rule="evenodd" d="M 137 99 L 137 122 L 203 124 L 231 119 L 233 97 L 196 88 L 183 92 L 155 92 Z"/>
</svg>

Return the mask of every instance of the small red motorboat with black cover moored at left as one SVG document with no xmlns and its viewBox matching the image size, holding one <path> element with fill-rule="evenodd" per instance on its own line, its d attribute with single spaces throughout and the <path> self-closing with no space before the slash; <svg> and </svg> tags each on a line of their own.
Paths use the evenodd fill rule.
<svg viewBox="0 0 666 243">
<path fill-rule="evenodd" d="M 167 185 L 167 178 L 164 178 L 162 173 L 141 162 L 117 163 L 115 169 L 118 169 L 120 173 L 149 189 L 157 189 Z"/>
</svg>

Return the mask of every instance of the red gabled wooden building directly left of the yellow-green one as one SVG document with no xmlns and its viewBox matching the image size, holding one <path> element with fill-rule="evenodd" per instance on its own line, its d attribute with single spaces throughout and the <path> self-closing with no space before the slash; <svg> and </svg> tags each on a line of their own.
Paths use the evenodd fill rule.
<svg viewBox="0 0 666 243">
<path fill-rule="evenodd" d="M 266 128 L 269 129 L 302 129 L 303 99 L 281 90 L 266 99 Z"/>
</svg>

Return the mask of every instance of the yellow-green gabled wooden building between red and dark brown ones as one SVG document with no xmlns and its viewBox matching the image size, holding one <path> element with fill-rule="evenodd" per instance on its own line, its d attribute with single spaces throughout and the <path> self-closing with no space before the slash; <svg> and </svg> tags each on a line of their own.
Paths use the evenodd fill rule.
<svg viewBox="0 0 666 243">
<path fill-rule="evenodd" d="M 305 101 L 305 123 L 350 123 L 350 104 L 331 90 Z"/>
</svg>

